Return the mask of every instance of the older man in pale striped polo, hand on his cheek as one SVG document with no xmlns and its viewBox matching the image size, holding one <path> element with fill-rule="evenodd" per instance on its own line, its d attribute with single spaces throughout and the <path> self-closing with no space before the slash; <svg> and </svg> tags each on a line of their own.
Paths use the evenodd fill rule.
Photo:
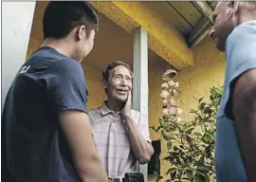
<svg viewBox="0 0 256 182">
<path fill-rule="evenodd" d="M 133 73 L 128 64 L 114 62 L 102 73 L 108 100 L 89 111 L 93 137 L 107 174 L 123 177 L 149 162 L 154 149 L 147 116 L 132 110 Z"/>
</svg>

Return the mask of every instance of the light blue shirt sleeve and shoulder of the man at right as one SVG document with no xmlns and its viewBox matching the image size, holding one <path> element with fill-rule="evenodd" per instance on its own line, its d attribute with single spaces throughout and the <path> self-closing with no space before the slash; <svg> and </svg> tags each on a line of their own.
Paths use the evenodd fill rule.
<svg viewBox="0 0 256 182">
<path fill-rule="evenodd" d="M 227 97 L 225 114 L 232 116 L 232 94 L 237 79 L 250 69 L 256 69 L 256 22 L 236 27 L 227 40 Z"/>
</svg>

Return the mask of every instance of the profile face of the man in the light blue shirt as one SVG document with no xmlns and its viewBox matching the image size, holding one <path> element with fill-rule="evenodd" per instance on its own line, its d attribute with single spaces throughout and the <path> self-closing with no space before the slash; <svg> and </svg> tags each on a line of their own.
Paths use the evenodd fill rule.
<svg viewBox="0 0 256 182">
<path fill-rule="evenodd" d="M 212 14 L 214 25 L 210 30 L 209 36 L 220 51 L 225 51 L 226 40 L 235 27 L 232 20 L 232 10 L 226 3 L 218 3 Z"/>
</svg>

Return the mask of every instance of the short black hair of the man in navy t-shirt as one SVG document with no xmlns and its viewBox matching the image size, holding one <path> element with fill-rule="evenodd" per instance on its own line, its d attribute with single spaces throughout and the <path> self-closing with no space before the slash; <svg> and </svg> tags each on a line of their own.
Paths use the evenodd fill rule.
<svg viewBox="0 0 256 182">
<path fill-rule="evenodd" d="M 50 1 L 43 18 L 44 39 L 60 39 L 74 27 L 85 26 L 89 34 L 98 30 L 99 17 L 95 9 L 85 1 Z"/>
</svg>

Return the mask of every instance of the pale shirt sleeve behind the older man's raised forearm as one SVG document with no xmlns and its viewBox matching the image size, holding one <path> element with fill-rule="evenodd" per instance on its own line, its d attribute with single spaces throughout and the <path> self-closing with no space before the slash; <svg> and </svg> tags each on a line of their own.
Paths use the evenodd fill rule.
<svg viewBox="0 0 256 182">
<path fill-rule="evenodd" d="M 150 135 L 149 135 L 149 123 L 148 123 L 148 117 L 147 115 L 140 113 L 139 114 L 139 120 L 137 124 L 138 131 L 140 134 L 148 141 L 152 142 Z"/>
</svg>

